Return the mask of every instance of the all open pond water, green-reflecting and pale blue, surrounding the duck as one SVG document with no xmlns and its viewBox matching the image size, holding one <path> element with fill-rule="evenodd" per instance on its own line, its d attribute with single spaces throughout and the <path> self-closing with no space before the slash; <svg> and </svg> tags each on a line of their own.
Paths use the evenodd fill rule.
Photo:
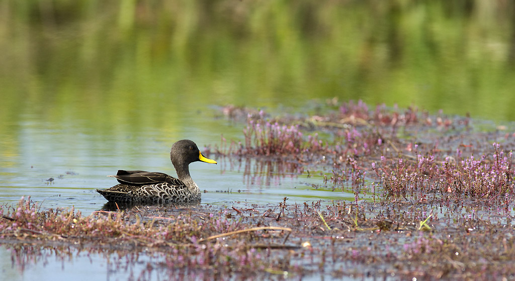
<svg viewBox="0 0 515 281">
<path fill-rule="evenodd" d="M 147 2 L 0 4 L 0 203 L 89 215 L 118 169 L 174 175 L 179 139 L 243 140 L 227 104 L 305 115 L 362 99 L 515 121 L 512 3 Z M 354 198 L 282 163 L 215 160 L 190 165 L 202 204 Z M 101 260 L 64 263 L 110 279 Z M 9 276 L 68 276 L 60 263 Z"/>
</svg>

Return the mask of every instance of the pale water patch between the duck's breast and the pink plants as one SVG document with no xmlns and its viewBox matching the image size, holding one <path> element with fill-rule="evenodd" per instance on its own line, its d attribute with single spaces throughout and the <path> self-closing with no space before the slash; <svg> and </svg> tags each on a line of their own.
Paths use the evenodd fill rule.
<svg viewBox="0 0 515 281">
<path fill-rule="evenodd" d="M 318 200 L 354 200 L 352 192 L 324 186 L 323 172 L 309 174 L 305 164 L 279 157 L 214 157 L 220 160 L 221 186 L 226 189 L 202 195 L 202 203 L 303 203 Z M 225 185 L 228 181 L 231 185 Z M 239 182 L 239 183 L 237 183 Z M 202 188 L 201 188 L 202 189 Z M 219 200 L 219 201 L 218 201 Z"/>
</svg>

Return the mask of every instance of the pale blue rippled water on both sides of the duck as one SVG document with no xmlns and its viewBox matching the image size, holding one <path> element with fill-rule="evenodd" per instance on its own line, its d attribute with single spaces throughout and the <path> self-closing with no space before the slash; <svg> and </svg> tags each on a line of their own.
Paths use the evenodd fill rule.
<svg viewBox="0 0 515 281">
<path fill-rule="evenodd" d="M 225 120 L 218 123 L 217 128 L 227 126 Z M 22 124 L 18 139 L 20 155 L 6 157 L 8 161 L 4 162 L 9 162 L 9 166 L 2 171 L 1 202 L 15 203 L 22 196 L 30 196 L 44 209 L 73 206 L 83 215 L 89 215 L 106 202 L 95 190 L 117 184 L 107 175 L 116 174 L 118 169 L 175 175 L 169 147 L 179 136 L 167 140 L 161 136 L 160 129 L 105 136 L 83 127 L 62 126 L 38 121 Z M 217 134 L 216 130 L 209 133 Z M 184 132 L 184 136 L 194 139 L 201 147 L 219 142 L 219 137 L 195 138 L 194 130 Z M 292 168 L 291 164 L 252 158 L 213 158 L 217 165 L 202 162 L 190 165 L 194 180 L 204 192 L 202 203 L 276 203 L 285 196 L 289 202 L 301 203 L 354 197 L 341 191 L 315 190 L 312 184 L 321 183 L 320 175 L 308 178 L 302 175 L 303 170 Z"/>
</svg>

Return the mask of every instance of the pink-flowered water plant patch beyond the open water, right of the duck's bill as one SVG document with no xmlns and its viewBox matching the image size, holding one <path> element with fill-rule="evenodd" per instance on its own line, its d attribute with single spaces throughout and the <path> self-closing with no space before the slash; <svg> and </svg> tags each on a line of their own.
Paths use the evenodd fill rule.
<svg viewBox="0 0 515 281">
<path fill-rule="evenodd" d="M 331 100 L 315 116 L 248 113 L 244 141 L 227 145 L 222 138 L 222 148 L 214 153 L 325 166 L 330 173 L 323 184 L 353 189 L 356 201 L 359 194 L 372 191 L 375 198 L 381 190 L 385 202 L 477 198 L 506 207 L 515 197 L 511 152 L 502 151 L 499 142 L 493 151 L 491 145 L 464 144 L 488 139 L 485 132 L 470 134 L 468 116 L 449 118 L 441 111 L 432 116 L 416 107 L 385 105 L 371 110 L 363 101 Z"/>
</svg>

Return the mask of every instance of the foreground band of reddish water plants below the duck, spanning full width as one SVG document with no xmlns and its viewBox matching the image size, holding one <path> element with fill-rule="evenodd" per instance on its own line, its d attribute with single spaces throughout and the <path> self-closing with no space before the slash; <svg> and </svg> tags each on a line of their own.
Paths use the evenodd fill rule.
<svg viewBox="0 0 515 281">
<path fill-rule="evenodd" d="M 193 272 L 237 280 L 276 274 L 486 280 L 511 274 L 509 211 L 492 215 L 470 203 L 438 205 L 283 198 L 269 205 L 135 207 L 84 217 L 21 200 L 0 209 L 0 241 L 15 266 L 45 259 L 48 250 L 61 258 L 98 253 L 116 257 L 113 270 L 130 268 L 142 280 Z M 422 231 L 421 222 L 431 230 Z M 141 272 L 132 272 L 142 263 Z"/>
</svg>

